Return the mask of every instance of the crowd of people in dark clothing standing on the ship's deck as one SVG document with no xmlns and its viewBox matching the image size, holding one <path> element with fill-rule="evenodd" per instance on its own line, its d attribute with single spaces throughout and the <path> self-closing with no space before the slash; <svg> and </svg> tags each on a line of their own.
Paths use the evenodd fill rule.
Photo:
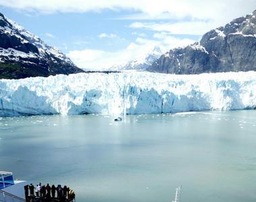
<svg viewBox="0 0 256 202">
<path fill-rule="evenodd" d="M 61 187 L 61 184 L 50 186 L 49 184 L 42 185 L 41 183 L 24 186 L 26 201 L 75 201 L 75 193 L 67 187 Z"/>
</svg>

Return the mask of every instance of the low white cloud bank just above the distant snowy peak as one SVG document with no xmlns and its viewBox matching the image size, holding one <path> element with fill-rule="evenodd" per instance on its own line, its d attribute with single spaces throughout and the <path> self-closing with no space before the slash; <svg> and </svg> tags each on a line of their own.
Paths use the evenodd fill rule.
<svg viewBox="0 0 256 202">
<path fill-rule="evenodd" d="M 185 46 L 194 42 L 188 38 L 179 39 L 168 34 L 159 34 L 159 36 L 155 36 L 155 40 L 138 37 L 121 50 L 111 52 L 97 49 L 72 50 L 68 53 L 68 57 L 80 68 L 102 70 L 116 65 L 124 65 L 128 61 L 143 57 L 143 55 L 151 53 L 156 46 L 165 52 L 170 48 Z"/>
</svg>

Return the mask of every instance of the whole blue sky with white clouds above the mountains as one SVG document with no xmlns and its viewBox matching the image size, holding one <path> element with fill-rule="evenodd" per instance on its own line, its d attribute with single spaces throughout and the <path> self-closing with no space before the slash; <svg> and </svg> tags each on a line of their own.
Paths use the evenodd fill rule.
<svg viewBox="0 0 256 202">
<path fill-rule="evenodd" d="M 7 18 L 84 69 L 186 46 L 255 9 L 255 0 L 0 0 Z"/>
</svg>

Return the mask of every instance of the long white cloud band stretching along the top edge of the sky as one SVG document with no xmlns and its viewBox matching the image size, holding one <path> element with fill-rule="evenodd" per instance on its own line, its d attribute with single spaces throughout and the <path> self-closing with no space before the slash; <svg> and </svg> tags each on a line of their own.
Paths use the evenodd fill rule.
<svg viewBox="0 0 256 202">
<path fill-rule="evenodd" d="M 130 19 L 170 18 L 213 20 L 217 24 L 230 22 L 256 7 L 255 0 L 0 0 L 0 5 L 40 13 L 86 12 L 103 9 L 130 9 L 136 14 Z M 137 16 L 136 16 L 137 15 Z M 129 18 L 129 16 L 124 16 Z"/>
</svg>

